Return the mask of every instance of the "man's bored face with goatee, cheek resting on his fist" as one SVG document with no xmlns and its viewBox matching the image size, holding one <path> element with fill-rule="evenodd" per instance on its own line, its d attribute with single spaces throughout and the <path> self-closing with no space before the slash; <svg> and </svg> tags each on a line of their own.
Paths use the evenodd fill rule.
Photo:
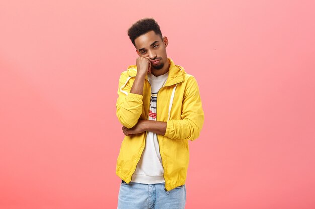
<svg viewBox="0 0 315 209">
<path fill-rule="evenodd" d="M 164 64 L 168 62 L 166 54 L 167 37 L 161 39 L 154 31 L 149 31 L 137 37 L 134 42 L 138 55 L 149 59 L 152 68 L 156 70 L 162 69 Z"/>
</svg>

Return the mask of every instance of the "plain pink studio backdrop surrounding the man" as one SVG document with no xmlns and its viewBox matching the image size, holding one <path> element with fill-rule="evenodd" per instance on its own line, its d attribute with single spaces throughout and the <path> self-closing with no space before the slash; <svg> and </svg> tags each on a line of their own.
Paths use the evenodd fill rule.
<svg viewBox="0 0 315 209">
<path fill-rule="evenodd" d="M 0 208 L 116 208 L 126 31 L 154 17 L 205 111 L 186 208 L 315 208 L 314 1 L 2 1 Z"/>
</svg>

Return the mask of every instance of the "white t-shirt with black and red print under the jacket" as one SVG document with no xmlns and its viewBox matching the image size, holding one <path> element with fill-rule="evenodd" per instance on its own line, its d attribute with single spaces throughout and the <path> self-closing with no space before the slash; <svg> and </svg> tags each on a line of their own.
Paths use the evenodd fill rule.
<svg viewBox="0 0 315 209">
<path fill-rule="evenodd" d="M 169 72 L 157 77 L 151 73 L 148 74 L 148 79 L 151 84 L 149 120 L 156 120 L 157 93 L 165 84 L 168 75 Z M 157 141 L 157 134 L 148 131 L 145 140 L 145 148 L 140 161 L 137 164 L 137 168 L 132 175 L 131 181 L 145 184 L 163 183 L 165 182 L 163 173 L 164 170 L 159 151 L 159 142 Z"/>
</svg>

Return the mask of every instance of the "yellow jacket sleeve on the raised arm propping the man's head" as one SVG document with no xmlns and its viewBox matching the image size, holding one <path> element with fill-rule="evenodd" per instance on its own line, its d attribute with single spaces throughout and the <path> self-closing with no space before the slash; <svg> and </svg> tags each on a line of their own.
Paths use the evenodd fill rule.
<svg viewBox="0 0 315 209">
<path fill-rule="evenodd" d="M 130 93 L 131 87 L 128 76 L 122 73 L 117 91 L 116 115 L 119 122 L 127 128 L 132 128 L 137 124 L 143 105 L 143 95 Z"/>
</svg>

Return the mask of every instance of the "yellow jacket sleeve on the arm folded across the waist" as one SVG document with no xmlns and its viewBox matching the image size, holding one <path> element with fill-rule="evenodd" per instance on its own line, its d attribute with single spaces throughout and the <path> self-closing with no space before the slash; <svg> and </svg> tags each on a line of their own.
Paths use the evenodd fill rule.
<svg viewBox="0 0 315 209">
<path fill-rule="evenodd" d="M 195 140 L 199 137 L 204 122 L 199 87 L 192 76 L 188 79 L 182 103 L 181 120 L 167 121 L 164 136 L 171 139 Z"/>
</svg>

